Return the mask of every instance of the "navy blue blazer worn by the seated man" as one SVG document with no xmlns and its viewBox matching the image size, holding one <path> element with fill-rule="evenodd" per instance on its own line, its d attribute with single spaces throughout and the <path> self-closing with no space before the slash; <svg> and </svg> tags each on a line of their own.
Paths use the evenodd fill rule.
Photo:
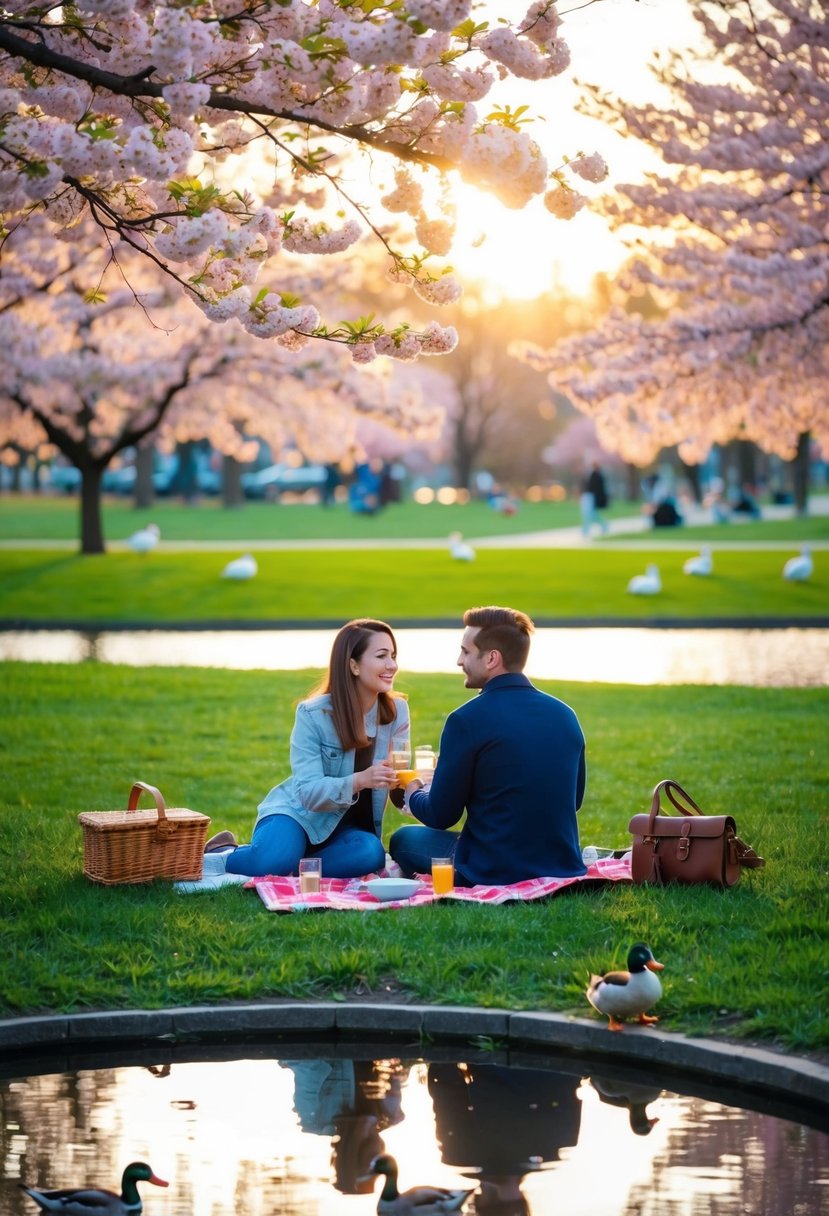
<svg viewBox="0 0 829 1216">
<path fill-rule="evenodd" d="M 429 790 L 410 807 L 421 823 L 467 820 L 458 874 L 478 883 L 583 874 L 576 811 L 585 796 L 585 736 L 569 705 L 524 675 L 495 676 L 446 719 Z"/>
</svg>

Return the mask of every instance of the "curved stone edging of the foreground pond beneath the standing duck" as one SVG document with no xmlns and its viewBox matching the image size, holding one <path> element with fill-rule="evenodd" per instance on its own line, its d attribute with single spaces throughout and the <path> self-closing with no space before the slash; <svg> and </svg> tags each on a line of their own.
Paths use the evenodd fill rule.
<svg viewBox="0 0 829 1216">
<path fill-rule="evenodd" d="M 660 1028 L 628 1025 L 611 1034 L 604 1023 L 566 1014 L 459 1006 L 372 1002 L 261 1002 L 126 1009 L 0 1019 L 0 1060 L 56 1049 L 83 1052 L 107 1045 L 173 1045 L 254 1035 L 343 1035 L 419 1042 L 486 1041 L 509 1051 L 586 1054 L 610 1064 L 678 1069 L 717 1082 L 829 1113 L 829 1068 L 739 1042 L 690 1038 Z"/>
</svg>

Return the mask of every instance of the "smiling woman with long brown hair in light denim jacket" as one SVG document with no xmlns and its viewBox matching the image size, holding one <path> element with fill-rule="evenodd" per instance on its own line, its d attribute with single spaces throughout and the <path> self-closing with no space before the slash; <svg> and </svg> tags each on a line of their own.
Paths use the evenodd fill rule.
<svg viewBox="0 0 829 1216">
<path fill-rule="evenodd" d="M 408 705 L 391 691 L 396 671 L 384 621 L 340 629 L 328 674 L 297 708 L 291 777 L 259 805 L 250 844 L 229 832 L 208 841 L 205 873 L 295 874 L 301 857 L 321 857 L 325 878 L 356 878 L 385 865 L 383 811 L 397 783 L 389 753 L 408 747 L 410 730 Z"/>
</svg>

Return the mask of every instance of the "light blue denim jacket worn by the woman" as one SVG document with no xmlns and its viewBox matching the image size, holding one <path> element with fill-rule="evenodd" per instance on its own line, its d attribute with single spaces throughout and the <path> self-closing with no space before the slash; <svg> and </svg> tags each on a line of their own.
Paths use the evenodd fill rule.
<svg viewBox="0 0 829 1216">
<path fill-rule="evenodd" d="M 408 745 L 408 705 L 399 697 L 394 698 L 394 705 L 393 722 L 378 724 L 377 705 L 366 714 L 366 737 L 370 743 L 373 741 L 372 764 L 389 754 L 395 745 L 393 739 L 397 747 Z M 312 845 L 322 844 L 357 800 L 354 754 L 354 748 L 346 750 L 339 741 L 328 693 L 300 702 L 291 732 L 291 777 L 275 786 L 259 804 L 259 818 L 287 815 L 300 824 Z M 385 789 L 371 792 L 378 837 L 387 798 Z"/>
</svg>

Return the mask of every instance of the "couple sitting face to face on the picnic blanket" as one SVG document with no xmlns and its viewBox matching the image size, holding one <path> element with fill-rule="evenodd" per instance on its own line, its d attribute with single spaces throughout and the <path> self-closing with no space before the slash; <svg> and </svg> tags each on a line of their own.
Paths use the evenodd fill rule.
<svg viewBox="0 0 829 1216">
<path fill-rule="evenodd" d="M 292 776 L 259 806 L 250 844 L 213 837 L 205 874 L 295 874 L 321 857 L 326 878 L 385 866 L 383 812 L 391 796 L 422 826 L 399 828 L 391 858 L 425 874 L 455 860 L 458 886 L 585 873 L 576 811 L 585 792 L 585 737 L 574 711 L 523 675 L 532 621 L 512 608 L 470 608 L 458 666 L 479 696 L 446 719 L 430 784 L 405 790 L 391 751 L 408 748 L 406 700 L 393 691 L 397 644 L 379 620 L 338 632 L 328 674 L 300 702 L 291 736 Z M 459 832 L 449 831 L 466 811 Z"/>
</svg>

